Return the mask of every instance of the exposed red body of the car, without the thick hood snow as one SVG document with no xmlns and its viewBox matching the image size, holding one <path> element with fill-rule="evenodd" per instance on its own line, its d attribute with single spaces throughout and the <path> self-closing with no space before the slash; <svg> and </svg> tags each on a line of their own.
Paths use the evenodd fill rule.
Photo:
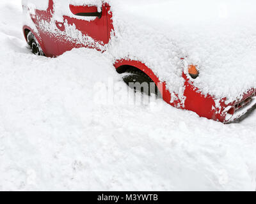
<svg viewBox="0 0 256 204">
<path fill-rule="evenodd" d="M 175 51 L 175 54 L 173 54 L 176 55 L 174 57 L 177 62 L 177 69 L 180 70 L 180 67 L 182 67 L 180 79 L 175 78 L 177 82 L 173 82 L 181 84 L 180 87 L 175 89 L 172 88 L 171 83 L 164 80 L 164 71 L 159 71 L 153 68 L 154 66 L 150 66 L 159 57 L 163 57 L 164 53 L 163 55 L 147 58 L 145 54 L 140 53 L 139 40 L 138 50 L 134 50 L 134 52 L 115 52 L 115 48 L 121 50 L 120 47 L 122 47 L 122 50 L 125 47 L 129 50 L 129 41 L 118 44 L 119 41 L 122 41 L 122 38 L 126 38 L 124 34 L 122 35 L 122 30 L 125 30 L 127 35 L 129 32 L 135 33 L 135 38 L 136 31 L 132 31 L 132 27 L 130 31 L 126 27 L 115 24 L 118 21 L 118 18 L 115 17 L 117 9 L 115 5 L 111 4 L 111 1 L 106 3 L 101 0 L 23 0 L 22 3 L 25 17 L 24 36 L 32 52 L 36 55 L 57 57 L 68 50 L 72 50 L 72 48 L 81 47 L 97 49 L 102 53 L 109 52 L 113 57 L 113 66 L 115 66 L 116 71 L 127 73 L 124 77 L 127 84 L 129 82 L 147 82 L 147 84 L 154 82 L 161 91 L 164 101 L 177 108 L 196 112 L 200 117 L 206 117 L 207 119 L 225 123 L 232 122 L 243 118 L 246 113 L 255 108 L 256 89 L 254 87 L 246 89 L 245 92 L 240 94 L 239 98 L 237 96 L 232 101 L 228 96 L 218 98 L 212 93 L 205 94 L 205 91 L 203 93 L 200 88 L 195 87 L 193 81 L 200 78 L 200 66 L 189 64 L 187 61 L 189 56 L 177 55 L 179 51 Z M 147 32 L 147 29 L 149 28 L 145 27 L 145 32 Z M 161 36 L 161 34 L 159 35 Z M 145 38 L 147 38 L 147 41 L 156 39 L 151 39 L 147 33 L 145 33 Z M 141 38 L 141 41 L 143 39 Z M 157 40 L 163 41 L 163 38 Z M 151 41 L 148 41 L 148 45 L 150 43 Z M 162 45 L 154 45 L 156 48 L 158 46 L 161 47 Z M 166 48 L 166 50 L 168 49 Z M 171 53 L 172 50 L 168 50 L 168 52 Z M 167 62 L 157 63 L 163 63 L 163 66 L 166 66 Z M 170 74 L 168 71 L 166 73 Z M 159 77 L 159 75 L 162 75 L 162 77 Z"/>
</svg>

